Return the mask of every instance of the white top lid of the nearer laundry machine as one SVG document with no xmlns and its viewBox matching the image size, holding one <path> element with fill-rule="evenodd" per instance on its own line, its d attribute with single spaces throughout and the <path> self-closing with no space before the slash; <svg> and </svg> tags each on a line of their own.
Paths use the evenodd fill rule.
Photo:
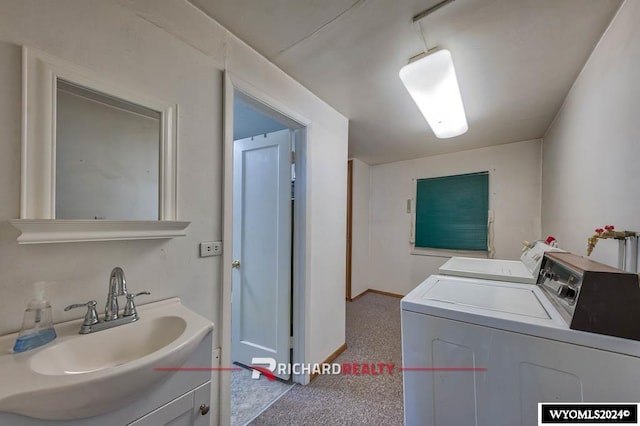
<svg viewBox="0 0 640 426">
<path fill-rule="evenodd" d="M 530 286 L 502 286 L 482 281 L 438 280 L 420 299 L 550 319 Z"/>
</svg>

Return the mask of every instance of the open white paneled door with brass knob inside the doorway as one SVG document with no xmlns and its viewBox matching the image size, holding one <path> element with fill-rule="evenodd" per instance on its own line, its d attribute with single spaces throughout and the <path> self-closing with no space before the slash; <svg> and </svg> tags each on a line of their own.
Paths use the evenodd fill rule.
<svg viewBox="0 0 640 426">
<path fill-rule="evenodd" d="M 244 365 L 289 363 L 290 146 L 288 129 L 234 142 L 231 358 Z"/>
</svg>

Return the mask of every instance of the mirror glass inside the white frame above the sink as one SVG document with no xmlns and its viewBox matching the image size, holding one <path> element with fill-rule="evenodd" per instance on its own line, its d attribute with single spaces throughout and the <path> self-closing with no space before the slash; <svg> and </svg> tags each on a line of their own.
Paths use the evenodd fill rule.
<svg viewBox="0 0 640 426">
<path fill-rule="evenodd" d="M 56 219 L 160 219 L 162 114 L 58 79 Z"/>
</svg>

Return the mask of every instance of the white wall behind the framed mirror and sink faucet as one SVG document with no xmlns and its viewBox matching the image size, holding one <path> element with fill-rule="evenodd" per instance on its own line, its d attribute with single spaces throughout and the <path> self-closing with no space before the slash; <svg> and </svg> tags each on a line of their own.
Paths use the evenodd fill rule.
<svg viewBox="0 0 640 426">
<path fill-rule="evenodd" d="M 109 273 L 117 265 L 131 291 L 151 291 L 140 303 L 177 295 L 216 320 L 219 259 L 198 258 L 197 244 L 221 234 L 221 143 L 211 138 L 222 132 L 221 71 L 205 55 L 111 1 L 4 2 L 0 40 L 0 333 L 20 327 L 34 281 L 58 282 L 49 294 L 55 321 L 83 315 L 63 312 L 70 303 L 96 299 L 103 307 Z M 178 217 L 192 221 L 187 237 L 17 244 L 18 231 L 6 220 L 20 215 L 23 44 L 180 105 Z M 211 184 L 204 194 L 197 190 L 202 181 Z"/>
</svg>

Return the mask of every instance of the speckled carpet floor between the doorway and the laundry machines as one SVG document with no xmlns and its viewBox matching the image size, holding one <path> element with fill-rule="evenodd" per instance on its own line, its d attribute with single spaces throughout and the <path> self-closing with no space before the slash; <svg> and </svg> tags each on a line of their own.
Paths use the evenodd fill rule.
<svg viewBox="0 0 640 426">
<path fill-rule="evenodd" d="M 320 375 L 294 386 L 251 425 L 402 425 L 400 299 L 347 302 L 347 350 L 334 362 L 394 364 L 393 374 Z M 386 373 L 386 370 L 385 370 Z"/>
</svg>

